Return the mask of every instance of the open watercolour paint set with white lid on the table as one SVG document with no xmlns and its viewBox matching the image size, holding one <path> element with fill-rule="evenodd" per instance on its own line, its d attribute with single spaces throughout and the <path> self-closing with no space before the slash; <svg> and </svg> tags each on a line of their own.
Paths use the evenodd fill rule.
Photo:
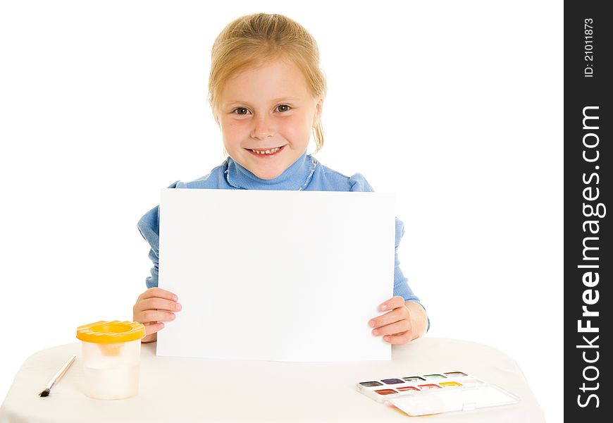
<svg viewBox="0 0 613 423">
<path fill-rule="evenodd" d="M 357 389 L 379 403 L 391 403 L 410 416 L 470 411 L 509 405 L 519 398 L 464 372 L 392 377 L 357 383 Z"/>
</svg>

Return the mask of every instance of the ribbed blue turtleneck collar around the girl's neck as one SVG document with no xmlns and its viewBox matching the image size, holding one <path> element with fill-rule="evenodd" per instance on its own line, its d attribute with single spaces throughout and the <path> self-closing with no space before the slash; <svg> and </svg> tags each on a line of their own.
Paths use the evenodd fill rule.
<svg viewBox="0 0 613 423">
<path fill-rule="evenodd" d="M 228 157 L 225 179 L 234 188 L 243 190 L 302 191 L 307 188 L 317 166 L 317 161 L 304 152 L 290 167 L 276 178 L 261 179 Z"/>
</svg>

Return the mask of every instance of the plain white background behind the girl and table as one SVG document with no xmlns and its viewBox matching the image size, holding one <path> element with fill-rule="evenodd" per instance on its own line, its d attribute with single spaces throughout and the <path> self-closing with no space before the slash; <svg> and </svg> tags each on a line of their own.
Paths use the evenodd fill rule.
<svg viewBox="0 0 613 423">
<path fill-rule="evenodd" d="M 316 157 L 396 193 L 428 336 L 507 353 L 562 421 L 554 1 L 1 2 L 0 398 L 77 326 L 132 319 L 151 266 L 136 223 L 160 188 L 223 161 L 211 44 L 259 11 L 318 40 L 329 90 Z"/>
</svg>

